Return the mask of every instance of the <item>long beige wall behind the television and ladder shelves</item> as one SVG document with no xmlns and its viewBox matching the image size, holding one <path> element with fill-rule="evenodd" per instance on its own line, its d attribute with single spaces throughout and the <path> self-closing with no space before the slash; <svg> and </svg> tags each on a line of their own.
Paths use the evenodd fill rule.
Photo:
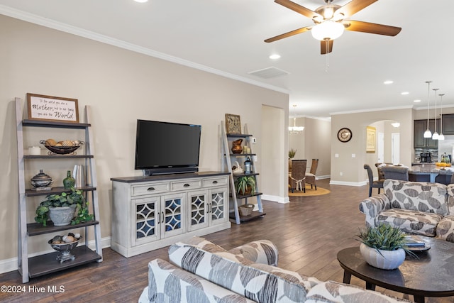
<svg viewBox="0 0 454 303">
<path fill-rule="evenodd" d="M 250 133 L 258 139 L 258 166 L 269 161 L 262 157 L 262 106 L 281 109 L 276 125 L 287 127 L 288 95 L 220 75 L 150 57 L 77 35 L 36 26 L 0 16 L 0 249 L 2 260 L 17 256 L 17 156 L 16 131 L 12 100 L 25 99 L 26 93 L 70 97 L 79 100 L 83 117 L 85 105 L 92 107 L 94 143 L 101 211 L 101 236 L 111 233 L 111 177 L 140 175 L 134 170 L 136 119 L 197 123 L 202 126 L 201 170 L 219 170 L 219 126 L 224 115 L 238 114 L 248 123 Z M 286 118 L 283 119 L 284 115 Z M 38 145 L 47 138 L 46 131 L 31 129 L 28 145 Z M 57 136 L 57 135 L 52 135 Z M 68 136 L 62 133 L 61 136 Z M 77 136 L 77 135 L 76 135 Z M 281 162 L 287 159 L 287 135 L 284 145 L 267 146 L 281 149 Z M 162 147 L 165 148 L 165 147 Z M 285 151 L 282 151 L 285 150 Z M 277 153 L 279 157 L 279 153 Z M 28 167 L 26 178 L 40 165 L 59 184 L 66 170 L 61 163 L 46 162 Z M 274 165 L 274 164 L 273 164 Z M 55 168 L 58 167 L 58 168 Z M 275 166 L 276 167 L 276 166 Z M 27 168 L 27 167 L 26 167 Z M 279 168 L 275 168 L 279 170 Z M 279 174 L 286 174 L 280 167 Z M 282 182 L 269 182 L 275 176 L 260 175 L 261 188 L 273 196 L 282 195 Z M 287 192 L 282 198 L 287 196 Z M 29 207 L 33 221 L 35 204 Z M 35 203 L 35 204 L 33 204 Z M 30 243 L 31 253 L 50 249 L 48 236 L 36 236 Z M 8 243 L 8 244 L 5 244 Z"/>
</svg>

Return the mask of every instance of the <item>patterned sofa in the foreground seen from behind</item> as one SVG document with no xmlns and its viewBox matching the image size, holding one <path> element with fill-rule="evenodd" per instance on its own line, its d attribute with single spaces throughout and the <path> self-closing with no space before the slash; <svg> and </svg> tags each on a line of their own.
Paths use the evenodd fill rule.
<svg viewBox="0 0 454 303">
<path fill-rule="evenodd" d="M 148 264 L 139 302 L 409 302 L 339 282 L 321 282 L 277 268 L 277 248 L 254 241 L 224 250 L 194 237 L 169 249 L 170 262 Z"/>
</svg>

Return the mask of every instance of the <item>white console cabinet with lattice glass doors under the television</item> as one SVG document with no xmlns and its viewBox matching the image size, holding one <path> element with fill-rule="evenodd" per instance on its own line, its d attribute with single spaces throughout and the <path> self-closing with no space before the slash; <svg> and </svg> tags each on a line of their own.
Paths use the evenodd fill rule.
<svg viewBox="0 0 454 303">
<path fill-rule="evenodd" d="M 111 248 L 131 257 L 231 227 L 228 173 L 111 178 Z"/>
</svg>

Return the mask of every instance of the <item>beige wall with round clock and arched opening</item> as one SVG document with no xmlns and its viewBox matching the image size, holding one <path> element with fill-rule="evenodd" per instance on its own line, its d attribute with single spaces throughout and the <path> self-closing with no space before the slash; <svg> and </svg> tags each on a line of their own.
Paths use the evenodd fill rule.
<svg viewBox="0 0 454 303">
<path fill-rule="evenodd" d="M 414 154 L 413 116 L 413 109 L 334 114 L 331 116 L 333 134 L 331 141 L 331 183 L 353 186 L 365 184 L 366 175 L 363 165 L 367 162 L 369 162 L 369 165 L 375 163 L 371 163 L 374 161 L 372 160 L 374 156 L 366 153 L 366 126 L 377 121 L 397 121 L 400 123 L 400 162 L 411 166 L 411 159 Z M 350 128 L 353 133 L 352 139 L 347 143 L 342 143 L 336 138 L 338 130 L 343 127 Z M 337 158 L 336 154 L 338 155 Z"/>
</svg>

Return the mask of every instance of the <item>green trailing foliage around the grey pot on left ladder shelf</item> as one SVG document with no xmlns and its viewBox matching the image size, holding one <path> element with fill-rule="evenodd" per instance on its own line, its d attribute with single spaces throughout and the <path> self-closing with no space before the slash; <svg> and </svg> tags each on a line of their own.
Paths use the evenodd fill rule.
<svg viewBox="0 0 454 303">
<path fill-rule="evenodd" d="M 94 219 L 93 214 L 89 214 L 88 205 L 83 191 L 81 189 L 74 189 L 71 187 L 71 192 L 62 192 L 61 194 L 49 194 L 45 201 L 41 202 L 36 209 L 35 221 L 47 226 L 49 220 L 49 207 L 62 207 L 62 206 L 77 206 L 77 215 L 71 221 L 71 224 L 80 224 L 82 222 L 91 221 Z"/>
</svg>

